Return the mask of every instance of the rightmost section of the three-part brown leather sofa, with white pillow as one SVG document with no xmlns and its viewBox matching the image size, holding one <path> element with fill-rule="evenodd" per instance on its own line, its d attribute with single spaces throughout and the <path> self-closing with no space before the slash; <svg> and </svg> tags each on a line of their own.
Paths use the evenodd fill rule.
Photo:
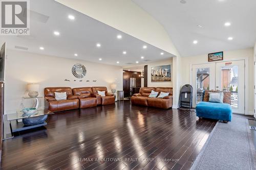
<svg viewBox="0 0 256 170">
<path fill-rule="evenodd" d="M 105 91 L 106 96 L 101 96 L 98 94 L 99 91 Z M 92 97 L 97 99 L 97 105 L 110 105 L 115 103 L 115 96 L 113 93 L 108 93 L 106 87 L 92 87 Z"/>
</svg>

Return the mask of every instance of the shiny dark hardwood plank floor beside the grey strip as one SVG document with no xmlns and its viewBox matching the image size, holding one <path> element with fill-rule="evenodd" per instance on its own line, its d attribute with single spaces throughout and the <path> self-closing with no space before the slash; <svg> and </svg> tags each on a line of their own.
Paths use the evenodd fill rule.
<svg viewBox="0 0 256 170">
<path fill-rule="evenodd" d="M 189 110 L 130 101 L 58 112 L 47 122 L 3 141 L 2 169 L 189 169 L 216 125 Z"/>
</svg>

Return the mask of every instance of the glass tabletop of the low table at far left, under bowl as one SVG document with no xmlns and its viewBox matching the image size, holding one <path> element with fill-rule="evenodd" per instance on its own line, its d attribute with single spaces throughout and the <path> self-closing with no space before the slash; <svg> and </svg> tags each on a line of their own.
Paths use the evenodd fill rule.
<svg viewBox="0 0 256 170">
<path fill-rule="evenodd" d="M 7 120 L 8 121 L 16 120 L 16 119 L 21 119 L 21 118 L 43 116 L 43 115 L 48 115 L 48 114 L 54 114 L 54 113 L 47 109 L 36 110 L 34 113 L 24 113 L 23 111 L 18 110 L 17 113 L 7 114 Z"/>
</svg>

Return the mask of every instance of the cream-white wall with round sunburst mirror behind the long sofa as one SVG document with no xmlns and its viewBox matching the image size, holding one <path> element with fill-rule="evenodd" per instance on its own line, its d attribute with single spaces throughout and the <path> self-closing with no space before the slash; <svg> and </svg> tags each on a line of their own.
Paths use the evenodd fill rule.
<svg viewBox="0 0 256 170">
<path fill-rule="evenodd" d="M 76 63 L 87 68 L 87 75 L 82 82 L 71 72 Z M 27 83 L 38 83 L 39 93 L 43 95 L 45 87 L 106 86 L 110 90 L 113 82 L 117 83 L 117 90 L 122 90 L 122 78 L 122 68 L 118 66 L 7 50 L 5 114 L 13 113 L 20 107 Z"/>
</svg>

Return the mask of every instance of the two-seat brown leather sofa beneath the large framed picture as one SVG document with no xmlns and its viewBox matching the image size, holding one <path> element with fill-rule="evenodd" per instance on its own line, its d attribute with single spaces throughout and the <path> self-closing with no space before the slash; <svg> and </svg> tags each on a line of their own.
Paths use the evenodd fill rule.
<svg viewBox="0 0 256 170">
<path fill-rule="evenodd" d="M 151 90 L 160 92 L 169 92 L 164 98 L 149 98 Z M 173 107 L 173 88 L 172 87 L 141 87 L 139 93 L 134 94 L 131 98 L 134 105 L 150 106 L 168 109 Z"/>
</svg>

